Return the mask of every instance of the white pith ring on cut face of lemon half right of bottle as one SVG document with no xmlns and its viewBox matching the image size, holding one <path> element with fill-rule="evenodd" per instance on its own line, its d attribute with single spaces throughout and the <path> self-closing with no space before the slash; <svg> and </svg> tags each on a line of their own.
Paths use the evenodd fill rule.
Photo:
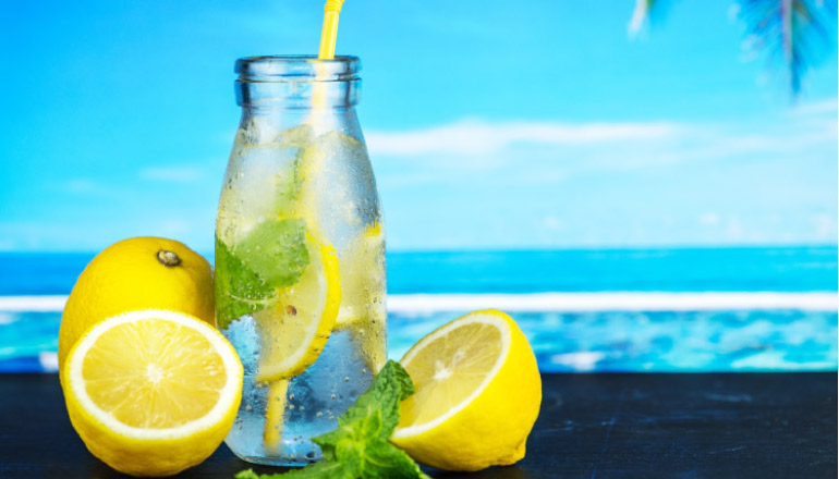
<svg viewBox="0 0 839 479">
<path fill-rule="evenodd" d="M 503 367 L 504 363 L 507 361 L 507 357 L 510 354 L 510 345 L 512 344 L 512 332 L 510 331 L 510 326 L 507 322 L 509 316 L 507 316 L 504 312 L 501 312 L 497 309 L 484 309 L 479 311 L 471 312 L 460 319 L 457 319 L 448 324 L 445 324 L 440 328 L 438 328 L 436 331 L 429 333 L 427 336 L 420 340 L 418 343 L 416 343 L 411 349 L 405 353 L 405 356 L 402 357 L 402 360 L 400 363 L 403 367 L 408 367 L 408 365 L 411 363 L 411 360 L 416 356 L 416 353 L 425 347 L 426 344 L 433 342 L 434 340 L 443 336 L 448 334 L 451 330 L 460 328 L 464 324 L 474 324 L 474 323 L 484 323 L 484 324 L 491 324 L 498 328 L 498 330 L 501 332 L 501 354 L 498 355 L 498 359 L 496 359 L 496 364 L 493 365 L 493 369 L 489 370 L 487 373 L 487 377 L 484 378 L 484 381 L 475 388 L 475 391 L 472 392 L 466 398 L 461 401 L 457 406 L 449 409 L 448 413 L 446 413 L 442 416 L 439 416 L 435 418 L 431 421 L 424 422 L 416 426 L 410 426 L 406 428 L 397 428 L 396 431 L 393 431 L 393 434 L 391 435 L 391 439 L 404 439 L 404 438 L 411 438 L 414 435 L 422 434 L 426 431 L 429 431 L 441 423 L 446 422 L 450 418 L 452 418 L 454 415 L 466 408 L 475 398 L 477 398 L 482 392 L 489 385 L 489 383 L 495 379 L 495 377 L 498 374 L 498 371 L 501 370 L 501 367 Z"/>
</svg>

